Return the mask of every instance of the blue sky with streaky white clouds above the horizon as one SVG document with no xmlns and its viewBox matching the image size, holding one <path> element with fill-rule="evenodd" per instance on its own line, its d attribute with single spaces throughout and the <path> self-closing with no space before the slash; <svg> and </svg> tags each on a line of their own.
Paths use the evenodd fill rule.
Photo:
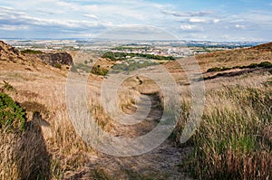
<svg viewBox="0 0 272 180">
<path fill-rule="evenodd" d="M 13 0 L 0 3 L 0 38 L 94 38 L 151 27 L 180 40 L 271 42 L 272 0 Z M 145 33 L 141 29 L 140 33 Z M 148 33 L 146 33 L 148 34 Z"/>
</svg>

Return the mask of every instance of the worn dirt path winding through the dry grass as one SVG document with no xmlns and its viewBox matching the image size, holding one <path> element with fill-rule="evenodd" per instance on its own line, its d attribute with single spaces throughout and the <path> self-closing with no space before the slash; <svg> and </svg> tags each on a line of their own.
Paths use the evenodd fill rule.
<svg viewBox="0 0 272 180">
<path fill-rule="evenodd" d="M 162 115 L 159 96 L 141 95 L 137 108 L 148 106 L 149 99 L 151 111 L 144 121 L 133 126 L 117 127 L 118 130 L 112 131 L 112 134 L 116 137 L 139 137 L 151 131 Z M 167 139 L 160 147 L 141 156 L 115 157 L 97 153 L 90 156 L 88 166 L 76 175 L 67 175 L 67 179 L 190 179 L 178 167 L 190 150 L 190 147 L 175 147 L 174 142 Z"/>
</svg>

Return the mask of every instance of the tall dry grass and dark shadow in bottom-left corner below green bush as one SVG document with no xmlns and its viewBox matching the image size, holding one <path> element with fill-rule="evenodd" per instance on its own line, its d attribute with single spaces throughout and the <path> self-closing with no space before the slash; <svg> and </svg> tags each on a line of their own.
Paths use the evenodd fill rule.
<svg viewBox="0 0 272 180">
<path fill-rule="evenodd" d="M 41 116 L 36 115 L 24 133 L 0 129 L 0 179 L 50 178 L 50 155 L 39 124 Z"/>
</svg>

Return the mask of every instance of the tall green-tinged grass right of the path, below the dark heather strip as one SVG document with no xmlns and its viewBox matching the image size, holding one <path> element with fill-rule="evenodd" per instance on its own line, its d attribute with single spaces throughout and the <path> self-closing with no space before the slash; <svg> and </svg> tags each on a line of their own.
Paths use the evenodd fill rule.
<svg viewBox="0 0 272 180">
<path fill-rule="evenodd" d="M 184 167 L 199 179 L 272 178 L 271 97 L 269 85 L 210 90 Z"/>
</svg>

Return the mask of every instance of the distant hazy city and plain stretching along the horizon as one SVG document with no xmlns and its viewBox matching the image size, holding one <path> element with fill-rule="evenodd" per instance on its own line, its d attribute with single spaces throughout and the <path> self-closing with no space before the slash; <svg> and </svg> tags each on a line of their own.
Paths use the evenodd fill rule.
<svg viewBox="0 0 272 180">
<path fill-rule="evenodd" d="M 219 43 L 196 41 L 110 41 L 110 40 L 12 40 L 6 39 L 19 50 L 35 50 L 42 52 L 55 51 L 98 51 L 140 53 L 172 57 L 188 57 L 191 55 L 252 47 L 259 43 Z"/>
</svg>

